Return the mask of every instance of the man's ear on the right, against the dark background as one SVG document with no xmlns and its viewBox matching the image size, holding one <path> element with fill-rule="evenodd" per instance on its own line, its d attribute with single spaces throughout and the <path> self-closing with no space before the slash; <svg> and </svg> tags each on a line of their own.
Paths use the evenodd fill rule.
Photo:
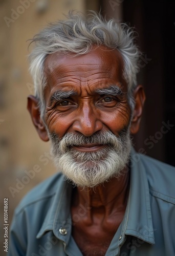
<svg viewBox="0 0 175 256">
<path fill-rule="evenodd" d="M 139 85 L 134 91 L 135 108 L 133 112 L 133 118 L 130 126 L 130 133 L 136 134 L 139 130 L 141 115 L 145 102 L 145 92 L 143 86 Z"/>
</svg>

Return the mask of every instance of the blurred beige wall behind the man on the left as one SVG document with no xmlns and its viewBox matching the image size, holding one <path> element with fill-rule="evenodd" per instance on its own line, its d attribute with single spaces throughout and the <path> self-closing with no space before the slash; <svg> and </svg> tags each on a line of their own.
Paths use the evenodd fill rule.
<svg viewBox="0 0 175 256">
<path fill-rule="evenodd" d="M 0 187 L 1 202 L 9 199 L 9 223 L 14 207 L 27 191 L 55 172 L 49 143 L 39 139 L 26 108 L 27 96 L 33 91 L 26 41 L 48 22 L 64 19 L 63 13 L 70 9 L 84 12 L 85 0 L 0 2 Z M 29 178 L 26 172 L 34 167 L 34 177 Z M 0 218 L 4 219 L 2 211 Z"/>
</svg>

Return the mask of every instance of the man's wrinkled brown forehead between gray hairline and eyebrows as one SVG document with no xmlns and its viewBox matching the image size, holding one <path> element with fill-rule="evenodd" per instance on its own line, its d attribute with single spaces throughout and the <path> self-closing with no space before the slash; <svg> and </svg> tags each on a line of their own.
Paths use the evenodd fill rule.
<svg viewBox="0 0 175 256">
<path fill-rule="evenodd" d="M 81 97 L 93 95 L 96 89 L 111 85 L 119 86 L 127 92 L 123 79 L 123 61 L 118 50 L 99 47 L 83 55 L 54 53 L 45 62 L 47 86 L 45 99 L 57 91 L 75 91 Z"/>
</svg>

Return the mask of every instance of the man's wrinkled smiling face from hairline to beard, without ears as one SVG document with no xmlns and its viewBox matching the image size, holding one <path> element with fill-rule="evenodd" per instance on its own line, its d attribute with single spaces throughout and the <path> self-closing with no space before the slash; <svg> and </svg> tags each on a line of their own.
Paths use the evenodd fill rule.
<svg viewBox="0 0 175 256">
<path fill-rule="evenodd" d="M 128 161 L 131 111 L 122 71 L 120 53 L 104 47 L 46 58 L 44 119 L 56 164 L 77 185 L 98 185 Z"/>
</svg>

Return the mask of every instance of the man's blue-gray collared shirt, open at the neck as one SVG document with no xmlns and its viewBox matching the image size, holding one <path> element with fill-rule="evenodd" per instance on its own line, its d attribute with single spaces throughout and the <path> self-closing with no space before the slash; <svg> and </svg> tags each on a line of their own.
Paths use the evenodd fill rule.
<svg viewBox="0 0 175 256">
<path fill-rule="evenodd" d="M 174 256 L 175 168 L 134 150 L 130 164 L 125 215 L 105 255 Z M 30 191 L 15 210 L 9 256 L 82 256 L 71 236 L 72 189 L 59 173 Z"/>
</svg>

